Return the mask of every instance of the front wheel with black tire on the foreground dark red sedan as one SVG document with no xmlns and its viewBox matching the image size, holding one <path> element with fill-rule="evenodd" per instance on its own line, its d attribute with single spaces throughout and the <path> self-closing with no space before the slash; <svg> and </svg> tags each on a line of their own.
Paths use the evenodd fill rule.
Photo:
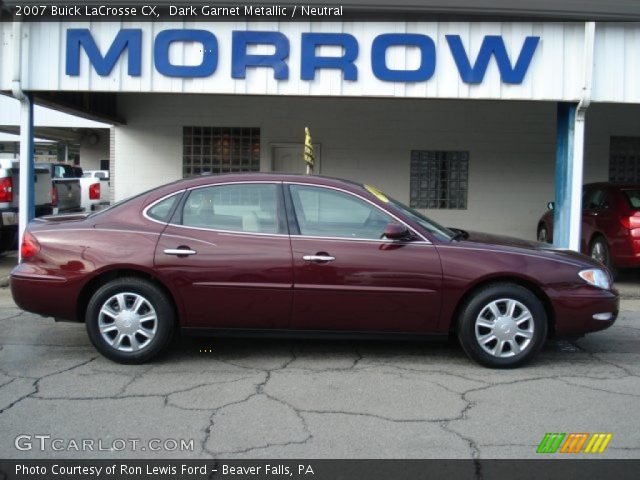
<svg viewBox="0 0 640 480">
<path fill-rule="evenodd" d="M 511 317 L 506 315 L 506 308 L 511 304 L 507 303 L 506 300 L 514 301 L 513 305 L 515 305 L 515 307 L 511 316 L 516 319 L 525 318 L 526 316 L 524 315 L 524 309 L 521 307 L 528 310 L 531 317 L 531 320 L 529 320 L 529 322 L 531 322 L 531 338 L 527 339 L 520 336 L 527 332 L 518 333 L 518 336 L 513 340 L 505 341 L 508 345 L 503 344 L 503 346 L 501 346 L 500 354 L 504 355 L 501 356 L 495 353 L 492 354 L 481 346 L 480 340 L 476 335 L 476 322 L 482 320 L 483 322 L 481 323 L 493 325 L 493 328 L 498 330 L 497 334 L 501 337 L 503 335 L 505 337 L 510 335 L 511 332 L 513 332 L 513 328 L 512 325 L 507 323 L 510 322 L 508 319 Z M 490 305 L 493 302 L 496 302 L 496 307 L 499 310 L 498 313 L 501 315 L 503 313 L 505 314 L 501 316 L 499 320 L 491 313 Z M 489 319 L 487 319 L 486 316 L 481 318 L 481 314 L 488 314 Z M 491 320 L 491 317 L 493 317 L 493 320 Z M 496 320 L 502 323 L 496 324 Z M 530 328 L 529 323 L 523 320 L 519 320 L 519 322 L 522 322 L 519 325 L 523 330 Z M 462 306 L 457 323 L 458 340 L 465 353 L 472 360 L 490 368 L 515 368 L 529 362 L 538 354 L 544 345 L 547 338 L 547 331 L 547 314 L 542 302 L 530 290 L 512 283 L 496 283 L 475 292 Z M 489 338 L 491 334 L 493 334 L 493 330 L 490 328 L 482 325 L 478 326 L 478 335 L 487 335 L 487 338 Z M 494 335 L 494 337 L 495 336 L 496 335 Z M 499 341 L 496 337 L 495 344 L 493 340 L 484 342 L 485 347 L 498 352 Z M 511 347 L 512 342 L 517 344 L 514 348 Z M 516 352 L 516 348 L 522 348 L 522 350 Z"/>
</svg>

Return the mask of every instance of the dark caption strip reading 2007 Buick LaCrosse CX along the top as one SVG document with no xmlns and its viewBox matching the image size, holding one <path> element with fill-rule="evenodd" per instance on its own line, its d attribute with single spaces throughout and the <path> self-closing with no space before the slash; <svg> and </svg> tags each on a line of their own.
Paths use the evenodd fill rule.
<svg viewBox="0 0 640 480">
<path fill-rule="evenodd" d="M 513 0 L 8 0 L 0 2 L 0 21 L 633 21 L 640 5 L 628 0 L 556 0 L 540 6 Z"/>
</svg>

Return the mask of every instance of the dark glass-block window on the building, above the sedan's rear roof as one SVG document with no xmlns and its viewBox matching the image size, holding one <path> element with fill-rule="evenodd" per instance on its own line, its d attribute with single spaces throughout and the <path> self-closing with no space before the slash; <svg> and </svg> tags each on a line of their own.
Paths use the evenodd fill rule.
<svg viewBox="0 0 640 480">
<path fill-rule="evenodd" d="M 182 176 L 260 170 L 260 129 L 183 127 Z"/>
</svg>

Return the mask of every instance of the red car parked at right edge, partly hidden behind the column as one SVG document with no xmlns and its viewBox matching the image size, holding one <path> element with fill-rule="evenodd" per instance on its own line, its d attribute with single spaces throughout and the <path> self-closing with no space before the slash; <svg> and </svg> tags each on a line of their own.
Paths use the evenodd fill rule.
<svg viewBox="0 0 640 480">
<path fill-rule="evenodd" d="M 538 222 L 538 241 L 553 242 L 553 203 Z M 640 267 L 640 184 L 591 183 L 582 193 L 580 251 L 612 274 Z"/>
</svg>

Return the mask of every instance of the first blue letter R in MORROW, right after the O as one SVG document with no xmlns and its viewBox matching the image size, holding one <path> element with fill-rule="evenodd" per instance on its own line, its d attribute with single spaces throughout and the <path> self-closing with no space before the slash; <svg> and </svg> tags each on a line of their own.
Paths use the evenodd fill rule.
<svg viewBox="0 0 640 480">
<path fill-rule="evenodd" d="M 271 55 L 249 55 L 248 45 L 270 44 L 276 47 Z M 289 66 L 285 61 L 289 56 L 289 39 L 280 32 L 233 32 L 231 47 L 231 76 L 245 78 L 247 67 L 273 68 L 276 80 L 289 78 Z"/>
</svg>

